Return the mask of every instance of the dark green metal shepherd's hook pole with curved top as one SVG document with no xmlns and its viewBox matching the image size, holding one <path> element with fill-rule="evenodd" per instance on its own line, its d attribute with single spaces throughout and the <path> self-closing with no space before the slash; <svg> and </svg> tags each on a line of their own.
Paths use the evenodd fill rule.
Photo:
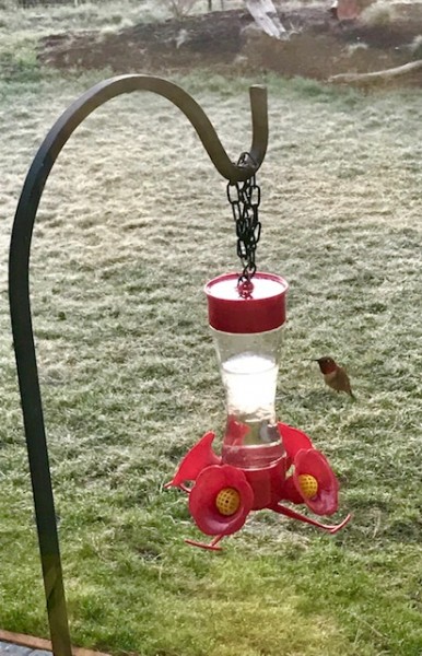
<svg viewBox="0 0 422 656">
<path fill-rule="evenodd" d="M 96 107 L 122 93 L 151 91 L 174 103 L 192 124 L 219 173 L 231 183 L 251 177 L 260 167 L 268 143 L 267 91 L 251 86 L 253 143 L 244 165 L 228 159 L 201 107 L 172 82 L 151 75 L 121 75 L 96 84 L 77 99 L 52 126 L 27 173 L 13 223 L 9 259 L 9 295 L 13 343 L 30 460 L 44 587 L 55 656 L 71 656 L 68 613 L 48 449 L 44 426 L 30 303 L 31 239 L 39 200 L 61 149 L 75 128 Z"/>
</svg>

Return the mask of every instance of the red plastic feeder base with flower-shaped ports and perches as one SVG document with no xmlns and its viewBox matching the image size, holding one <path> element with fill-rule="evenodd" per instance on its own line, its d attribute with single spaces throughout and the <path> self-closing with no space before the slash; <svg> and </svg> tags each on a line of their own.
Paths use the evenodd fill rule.
<svg viewBox="0 0 422 656">
<path fill-rule="evenodd" d="M 214 433 L 207 433 L 188 452 L 166 487 L 178 487 L 189 494 L 189 511 L 198 528 L 214 538 L 208 544 L 186 542 L 218 550 L 218 542 L 239 530 L 250 511 L 262 507 L 330 534 L 345 526 L 350 515 L 340 524 L 325 525 L 280 503 L 288 501 L 306 505 L 316 515 L 332 515 L 338 509 L 339 484 L 327 458 L 305 433 L 282 423 L 278 429 L 284 455 L 269 467 L 224 464 L 212 449 Z M 194 485 L 188 487 L 188 481 Z"/>
</svg>

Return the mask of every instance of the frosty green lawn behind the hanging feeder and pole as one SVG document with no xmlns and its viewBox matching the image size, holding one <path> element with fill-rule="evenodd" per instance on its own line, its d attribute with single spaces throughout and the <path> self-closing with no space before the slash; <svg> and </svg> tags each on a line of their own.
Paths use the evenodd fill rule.
<svg viewBox="0 0 422 656">
<path fill-rule="evenodd" d="M 0 626 L 48 635 L 7 305 L 24 176 L 69 103 L 102 79 L 0 82 Z M 175 79 L 236 160 L 247 86 Z M 337 536 L 261 512 L 221 554 L 194 550 L 163 491 L 224 423 L 204 282 L 238 268 L 225 183 L 167 102 L 120 97 L 77 130 L 34 232 L 32 304 L 72 641 L 141 656 L 420 656 L 421 93 L 265 80 L 270 147 L 257 261 L 290 284 L 280 419 L 329 457 Z M 347 365 L 355 403 L 312 358 Z"/>
</svg>

